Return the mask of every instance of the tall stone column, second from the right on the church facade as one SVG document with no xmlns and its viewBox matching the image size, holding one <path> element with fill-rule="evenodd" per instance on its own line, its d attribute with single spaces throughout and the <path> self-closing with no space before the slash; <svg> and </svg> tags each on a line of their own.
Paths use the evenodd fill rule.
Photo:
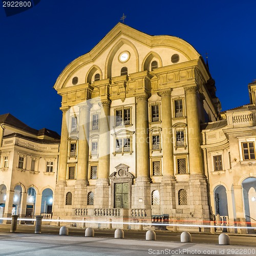
<svg viewBox="0 0 256 256">
<path fill-rule="evenodd" d="M 172 91 L 160 92 L 162 102 L 162 150 L 163 166 L 162 181 L 160 185 L 161 209 L 164 214 L 170 213 L 170 209 L 176 208 L 174 176 L 174 146 L 173 146 L 173 123 L 172 123 Z"/>
</svg>

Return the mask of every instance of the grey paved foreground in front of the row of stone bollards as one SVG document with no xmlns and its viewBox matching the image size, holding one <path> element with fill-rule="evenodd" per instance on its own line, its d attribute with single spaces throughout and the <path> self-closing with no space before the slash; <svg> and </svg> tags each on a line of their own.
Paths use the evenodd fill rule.
<svg viewBox="0 0 256 256">
<path fill-rule="evenodd" d="M 256 255 L 256 246 L 0 233 L 4 255 Z M 249 251 L 250 249 L 250 251 Z M 233 250 L 233 251 L 232 251 Z M 236 253 L 237 252 L 237 253 Z"/>
</svg>

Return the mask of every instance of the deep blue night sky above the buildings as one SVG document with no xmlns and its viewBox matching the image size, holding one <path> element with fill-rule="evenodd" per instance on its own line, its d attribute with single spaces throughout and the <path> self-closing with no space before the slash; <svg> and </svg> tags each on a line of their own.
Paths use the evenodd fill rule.
<svg viewBox="0 0 256 256">
<path fill-rule="evenodd" d="M 2 4 L 2 3 L 1 3 Z M 60 133 L 60 72 L 89 52 L 125 14 L 125 24 L 150 35 L 178 36 L 204 57 L 222 110 L 249 103 L 256 79 L 256 1 L 41 0 L 6 17 L 0 8 L 1 111 L 35 129 Z"/>
</svg>

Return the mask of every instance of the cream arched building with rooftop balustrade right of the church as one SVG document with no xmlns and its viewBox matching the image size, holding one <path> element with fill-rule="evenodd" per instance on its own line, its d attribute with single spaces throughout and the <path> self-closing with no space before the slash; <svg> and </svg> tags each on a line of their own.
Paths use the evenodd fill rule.
<svg viewBox="0 0 256 256">
<path fill-rule="evenodd" d="M 240 221 L 255 227 L 256 81 L 248 88 L 250 104 L 222 112 L 221 121 L 201 125 L 202 149 L 213 214 L 231 226 Z"/>
</svg>

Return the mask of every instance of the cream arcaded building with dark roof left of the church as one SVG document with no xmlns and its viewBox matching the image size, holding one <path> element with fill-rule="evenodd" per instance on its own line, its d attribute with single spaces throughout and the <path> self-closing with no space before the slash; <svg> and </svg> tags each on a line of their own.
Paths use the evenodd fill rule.
<svg viewBox="0 0 256 256">
<path fill-rule="evenodd" d="M 0 218 L 44 215 L 50 219 L 60 136 L 0 115 Z"/>
</svg>

